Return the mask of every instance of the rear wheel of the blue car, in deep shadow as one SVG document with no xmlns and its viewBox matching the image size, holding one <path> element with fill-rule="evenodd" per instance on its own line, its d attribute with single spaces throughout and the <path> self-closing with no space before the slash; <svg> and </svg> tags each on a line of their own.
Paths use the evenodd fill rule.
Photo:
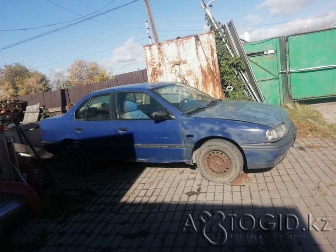
<svg viewBox="0 0 336 252">
<path fill-rule="evenodd" d="M 90 170 L 89 160 L 85 151 L 77 144 L 71 144 L 65 149 L 68 167 L 78 175 L 87 174 Z"/>
</svg>

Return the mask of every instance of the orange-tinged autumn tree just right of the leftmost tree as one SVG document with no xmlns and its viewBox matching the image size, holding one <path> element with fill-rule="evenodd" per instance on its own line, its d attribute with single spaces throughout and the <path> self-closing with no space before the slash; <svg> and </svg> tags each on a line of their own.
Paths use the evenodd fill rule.
<svg viewBox="0 0 336 252">
<path fill-rule="evenodd" d="M 41 93 L 50 90 L 47 76 L 38 71 L 30 72 L 28 77 L 17 77 L 16 83 L 19 95 Z"/>
</svg>

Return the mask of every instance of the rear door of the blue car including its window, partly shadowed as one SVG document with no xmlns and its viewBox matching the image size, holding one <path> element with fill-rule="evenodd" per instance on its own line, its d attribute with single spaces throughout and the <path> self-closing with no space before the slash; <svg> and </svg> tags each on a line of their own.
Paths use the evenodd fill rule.
<svg viewBox="0 0 336 252">
<path fill-rule="evenodd" d="M 116 147 L 111 101 L 108 92 L 91 96 L 75 108 L 71 131 L 90 157 L 110 157 Z"/>
</svg>

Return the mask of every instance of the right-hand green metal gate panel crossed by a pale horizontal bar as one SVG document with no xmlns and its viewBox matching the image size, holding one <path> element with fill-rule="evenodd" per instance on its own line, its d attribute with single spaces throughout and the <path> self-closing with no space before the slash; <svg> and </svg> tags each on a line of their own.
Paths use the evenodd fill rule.
<svg viewBox="0 0 336 252">
<path fill-rule="evenodd" d="M 336 29 L 288 37 L 292 100 L 336 95 Z"/>
</svg>

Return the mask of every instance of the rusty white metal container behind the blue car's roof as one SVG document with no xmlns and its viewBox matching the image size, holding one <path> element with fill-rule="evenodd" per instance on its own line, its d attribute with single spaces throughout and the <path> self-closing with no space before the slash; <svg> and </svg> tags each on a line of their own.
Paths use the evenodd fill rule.
<svg viewBox="0 0 336 252">
<path fill-rule="evenodd" d="M 186 83 L 223 99 L 214 32 L 143 46 L 150 82 Z"/>
</svg>

